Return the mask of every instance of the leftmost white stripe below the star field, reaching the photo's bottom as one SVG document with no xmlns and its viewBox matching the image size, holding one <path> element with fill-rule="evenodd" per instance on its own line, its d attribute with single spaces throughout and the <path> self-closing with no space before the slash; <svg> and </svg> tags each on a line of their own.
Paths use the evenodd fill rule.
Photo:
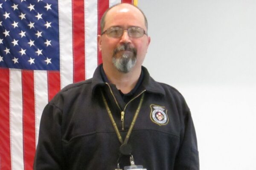
<svg viewBox="0 0 256 170">
<path fill-rule="evenodd" d="M 10 69 L 10 138 L 12 170 L 23 170 L 23 106 L 21 71 Z"/>
</svg>

